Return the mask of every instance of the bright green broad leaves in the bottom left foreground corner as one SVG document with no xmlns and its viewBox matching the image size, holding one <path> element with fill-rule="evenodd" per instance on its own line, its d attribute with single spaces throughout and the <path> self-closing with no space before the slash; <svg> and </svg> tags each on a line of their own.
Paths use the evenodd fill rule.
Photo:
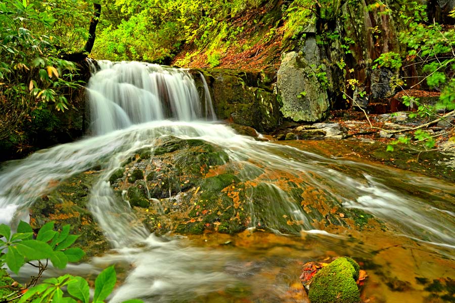
<svg viewBox="0 0 455 303">
<path fill-rule="evenodd" d="M 0 266 L 6 264 L 16 274 L 25 263 L 37 260 L 39 273 L 32 277 L 29 288 L 15 290 L 8 295 L 8 300 L 19 299 L 19 303 L 33 299 L 33 302 L 90 302 L 90 288 L 88 282 L 82 277 L 69 274 L 49 278 L 37 284 L 42 272 L 47 269 L 47 262 L 42 259 L 50 259 L 54 267 L 65 268 L 68 262 L 78 262 L 84 256 L 80 248 L 71 246 L 77 239 L 77 235 L 70 235 L 70 225 L 62 227 L 61 231 L 54 230 L 54 222 L 44 224 L 35 235 L 30 225 L 21 221 L 17 232 L 12 234 L 8 225 L 0 225 L 0 235 L 5 240 L 0 240 Z M 34 238 L 36 236 L 36 238 Z M 5 252 L 5 249 L 8 250 Z M 92 302 L 103 302 L 114 289 L 117 281 L 114 266 L 103 270 L 95 280 L 95 293 Z M 66 288 L 66 293 L 63 289 Z M 6 299 L 6 297 L 0 297 Z M 132 299 L 125 303 L 141 303 L 142 300 Z"/>
</svg>

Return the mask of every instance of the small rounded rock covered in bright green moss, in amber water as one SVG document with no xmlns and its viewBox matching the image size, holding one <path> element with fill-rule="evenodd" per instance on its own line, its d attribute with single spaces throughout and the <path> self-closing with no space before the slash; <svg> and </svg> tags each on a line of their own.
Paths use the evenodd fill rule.
<svg viewBox="0 0 455 303">
<path fill-rule="evenodd" d="M 350 258 L 338 258 L 314 275 L 308 297 L 311 303 L 359 303 L 358 264 Z"/>
</svg>

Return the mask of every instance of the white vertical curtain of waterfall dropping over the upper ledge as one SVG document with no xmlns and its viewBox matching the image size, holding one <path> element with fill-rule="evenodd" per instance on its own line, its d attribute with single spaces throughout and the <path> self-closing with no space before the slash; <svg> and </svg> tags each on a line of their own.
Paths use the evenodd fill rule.
<svg viewBox="0 0 455 303">
<path fill-rule="evenodd" d="M 185 69 L 111 61 L 98 61 L 92 64 L 92 69 L 87 91 L 94 134 L 164 119 L 215 120 L 202 75 L 204 104 L 201 104 L 194 79 Z"/>
</svg>

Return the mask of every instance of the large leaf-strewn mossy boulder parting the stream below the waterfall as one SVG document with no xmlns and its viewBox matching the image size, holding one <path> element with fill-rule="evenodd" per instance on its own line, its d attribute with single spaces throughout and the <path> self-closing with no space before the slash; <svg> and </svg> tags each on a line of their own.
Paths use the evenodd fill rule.
<svg viewBox="0 0 455 303">
<path fill-rule="evenodd" d="M 154 232 L 200 234 L 205 230 L 235 233 L 245 230 L 249 216 L 243 183 L 233 172 L 224 171 L 229 157 L 203 140 L 160 138 L 150 158 L 138 157 L 125 164 L 141 170 L 145 180 L 117 183 L 126 190 L 140 221 Z M 207 173 L 217 171 L 207 176 Z M 237 172 L 238 173 L 238 172 Z"/>
</svg>

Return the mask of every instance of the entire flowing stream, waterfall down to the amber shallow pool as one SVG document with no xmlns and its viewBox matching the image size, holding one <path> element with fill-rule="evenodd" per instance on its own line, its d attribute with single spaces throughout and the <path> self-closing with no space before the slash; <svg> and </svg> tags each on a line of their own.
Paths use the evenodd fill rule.
<svg viewBox="0 0 455 303">
<path fill-rule="evenodd" d="M 134 297 L 150 302 L 294 302 L 302 292 L 296 285 L 303 263 L 343 255 L 363 262 L 370 275 L 365 296 L 378 302 L 424 301 L 429 293 L 416 283 L 416 276 L 431 280 L 451 273 L 453 278 L 453 184 L 335 158 L 330 152 L 320 155 L 305 150 L 304 143 L 296 148 L 238 135 L 215 120 L 210 102 L 201 104 L 185 70 L 103 61 L 87 91 L 93 135 L 4 164 L 0 222 L 14 225 L 26 219 L 27 207 L 39 196 L 69 176 L 101 165 L 104 170 L 90 192 L 88 208 L 112 253 L 95 258 L 88 267 L 132 266 L 112 302 Z M 115 197 L 109 176 L 133 151 L 153 151 L 155 141 L 166 135 L 221 146 L 242 181 L 261 176 L 247 192 L 250 229 L 237 235 L 179 237 L 131 226 L 134 213 Z M 315 194 L 296 196 L 279 176 L 315 189 Z M 316 225 L 304 204 L 317 204 L 318 199 L 362 210 L 384 228 L 355 231 Z M 282 218 L 296 224 L 283 224 Z M 87 271 L 79 266 L 71 272 L 77 268 Z M 408 287 L 397 291 L 387 286 L 385 276 Z"/>
</svg>

